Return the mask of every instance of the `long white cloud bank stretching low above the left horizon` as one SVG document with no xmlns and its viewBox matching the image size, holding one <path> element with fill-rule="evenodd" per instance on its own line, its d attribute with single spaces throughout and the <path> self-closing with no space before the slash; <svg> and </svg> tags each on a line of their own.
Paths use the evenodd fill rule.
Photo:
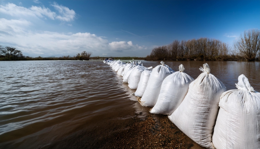
<svg viewBox="0 0 260 149">
<path fill-rule="evenodd" d="M 121 52 L 123 50 L 146 49 L 134 45 L 132 41 L 111 42 L 88 32 L 85 33 L 58 33 L 58 32 L 33 32 L 26 27 L 32 25 L 26 20 L 0 19 L 0 41 L 6 45 L 15 46 L 31 56 L 75 55 L 83 50 L 92 51 L 94 54 L 104 51 Z M 38 54 L 38 55 L 37 55 Z M 104 53 L 103 53 L 104 54 Z"/>
</svg>

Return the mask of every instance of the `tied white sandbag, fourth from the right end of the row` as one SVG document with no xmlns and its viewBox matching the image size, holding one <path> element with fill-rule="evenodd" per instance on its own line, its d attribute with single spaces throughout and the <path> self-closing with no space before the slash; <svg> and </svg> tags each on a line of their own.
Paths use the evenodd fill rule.
<svg viewBox="0 0 260 149">
<path fill-rule="evenodd" d="M 156 66 L 150 75 L 147 86 L 141 98 L 141 106 L 153 107 L 160 94 L 161 86 L 165 77 L 171 74 L 171 70 L 164 62 Z"/>
</svg>

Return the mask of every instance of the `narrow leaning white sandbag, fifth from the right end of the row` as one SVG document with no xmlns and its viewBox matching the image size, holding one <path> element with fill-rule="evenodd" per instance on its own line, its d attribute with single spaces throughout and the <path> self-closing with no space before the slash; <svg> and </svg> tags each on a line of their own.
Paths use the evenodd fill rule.
<svg viewBox="0 0 260 149">
<path fill-rule="evenodd" d="M 133 95 L 135 95 L 137 97 L 143 96 L 143 93 L 144 93 L 145 88 L 147 86 L 151 72 L 152 72 L 152 70 L 144 70 L 142 72 L 141 77 L 140 77 L 140 81 L 138 83 L 138 87 L 137 87 L 136 91 L 133 93 Z"/>
</svg>

